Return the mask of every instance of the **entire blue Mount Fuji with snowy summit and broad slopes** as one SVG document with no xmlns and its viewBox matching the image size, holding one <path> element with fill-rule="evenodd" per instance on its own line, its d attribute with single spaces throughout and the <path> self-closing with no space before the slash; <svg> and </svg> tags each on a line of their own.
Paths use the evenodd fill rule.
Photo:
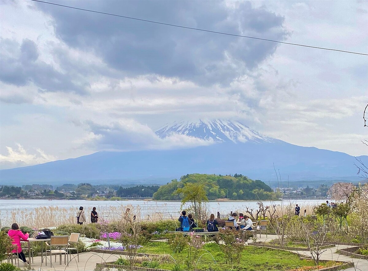
<svg viewBox="0 0 368 271">
<path fill-rule="evenodd" d="M 355 157 L 343 152 L 301 147 L 263 136 L 240 122 L 180 122 L 158 129 L 159 138 L 181 134 L 208 141 L 199 147 L 129 152 L 96 152 L 23 168 L 0 170 L 1 184 L 166 183 L 187 173 L 243 174 L 264 182 L 275 170 L 290 180 L 357 180 Z M 357 157 L 368 165 L 368 156 Z M 284 176 L 283 176 L 284 175 Z"/>
</svg>

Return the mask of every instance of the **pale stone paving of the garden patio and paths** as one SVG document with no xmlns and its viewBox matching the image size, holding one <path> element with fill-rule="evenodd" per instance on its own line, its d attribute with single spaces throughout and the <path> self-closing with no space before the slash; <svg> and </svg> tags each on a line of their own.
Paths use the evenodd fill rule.
<svg viewBox="0 0 368 271">
<path fill-rule="evenodd" d="M 265 242 L 272 239 L 276 239 L 276 235 L 257 235 L 257 241 L 258 242 Z M 160 240 L 161 242 L 165 242 L 165 240 Z M 348 268 L 345 271 L 368 271 L 368 260 L 361 260 L 361 259 L 355 259 L 348 256 L 344 256 L 341 254 L 335 253 L 337 249 L 344 249 L 349 246 L 346 245 L 336 245 L 336 247 L 328 248 L 327 251 L 325 251 L 321 255 L 321 260 L 334 260 L 334 261 L 353 261 L 354 267 Z M 290 251 L 299 253 L 305 256 L 311 256 L 309 251 Z M 96 263 L 105 263 L 105 262 L 111 262 L 115 261 L 117 258 L 120 257 L 120 255 L 117 254 L 103 254 L 103 253 L 94 253 L 94 252 L 85 252 L 79 254 L 79 263 L 77 262 L 77 254 L 72 254 L 72 259 L 70 260 L 68 266 L 64 265 L 64 257 L 63 262 L 60 265 L 59 263 L 59 257 L 56 259 L 53 257 L 52 266 L 50 267 L 50 256 L 47 259 L 47 266 L 45 265 L 45 262 L 41 263 L 41 257 L 34 257 L 34 263 L 32 263 L 33 270 L 39 270 L 39 271 L 92 271 L 96 268 Z M 20 267 L 23 268 L 23 264 L 20 264 Z"/>
</svg>

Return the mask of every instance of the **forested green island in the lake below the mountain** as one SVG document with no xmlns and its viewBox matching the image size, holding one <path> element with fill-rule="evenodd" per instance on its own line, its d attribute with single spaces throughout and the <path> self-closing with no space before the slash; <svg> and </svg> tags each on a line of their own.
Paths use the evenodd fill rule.
<svg viewBox="0 0 368 271">
<path fill-rule="evenodd" d="M 215 175 L 215 174 L 187 174 L 172 180 L 161 186 L 153 193 L 153 200 L 180 200 L 180 195 L 175 193 L 185 183 L 199 183 L 204 185 L 209 200 L 218 198 L 231 200 L 269 200 L 276 199 L 277 194 L 271 187 L 261 180 L 251 180 L 241 174 Z"/>
</svg>

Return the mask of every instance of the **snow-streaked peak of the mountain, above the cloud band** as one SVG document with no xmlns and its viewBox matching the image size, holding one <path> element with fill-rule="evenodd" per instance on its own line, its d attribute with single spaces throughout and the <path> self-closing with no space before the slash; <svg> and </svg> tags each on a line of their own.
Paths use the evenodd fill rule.
<svg viewBox="0 0 368 271">
<path fill-rule="evenodd" d="M 165 138 L 172 134 L 184 134 L 216 142 L 271 142 L 273 140 L 272 138 L 262 136 L 240 122 L 215 119 L 199 120 L 196 123 L 174 122 L 156 130 L 155 133 L 160 138 Z"/>
</svg>

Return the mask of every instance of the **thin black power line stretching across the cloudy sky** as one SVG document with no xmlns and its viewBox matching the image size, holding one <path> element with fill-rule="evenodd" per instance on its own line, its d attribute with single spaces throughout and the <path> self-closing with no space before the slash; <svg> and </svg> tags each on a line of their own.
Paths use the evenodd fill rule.
<svg viewBox="0 0 368 271">
<path fill-rule="evenodd" d="M 303 45 L 303 44 L 298 44 L 298 43 L 274 41 L 272 39 L 262 39 L 262 38 L 256 38 L 256 37 L 251 37 L 251 36 L 243 36 L 243 35 L 236 35 L 236 34 L 230 34 L 230 33 L 224 33 L 224 32 L 217 32 L 217 31 L 206 30 L 206 29 L 201 29 L 201 28 L 184 27 L 183 25 L 166 24 L 164 22 L 156 22 L 156 21 L 144 20 L 144 19 L 139 19 L 139 18 L 134 18 L 134 17 L 128 17 L 128 16 L 123 16 L 123 15 L 117 15 L 117 14 L 112 14 L 112 13 L 106 13 L 106 12 L 96 11 L 96 10 L 87 10 L 85 8 L 65 6 L 65 5 L 61 5 L 61 4 L 50 3 L 50 2 L 46 2 L 46 1 L 40 1 L 40 0 L 31 0 L 31 1 L 45 3 L 45 4 L 50 4 L 50 5 L 59 6 L 59 7 L 72 8 L 72 9 L 75 9 L 75 10 L 83 10 L 83 11 L 89 11 L 89 12 L 93 12 L 93 13 L 111 15 L 111 16 L 116 16 L 116 17 L 131 19 L 131 20 L 137 20 L 137 21 L 143 21 L 143 22 L 152 22 L 154 24 L 168 25 L 168 26 L 171 26 L 171 27 L 180 27 L 180 28 L 185 28 L 185 29 L 192 29 L 192 30 L 210 32 L 210 33 L 221 34 L 221 35 L 236 36 L 236 37 L 249 38 L 249 39 L 258 39 L 258 40 L 261 40 L 261 41 L 270 41 L 270 42 L 277 42 L 277 43 L 282 43 L 282 44 L 289 44 L 289 45 L 296 45 L 296 46 L 309 47 L 309 48 L 315 48 L 315 49 L 330 50 L 330 51 L 337 51 L 337 52 L 350 53 L 350 54 L 360 54 L 360 55 L 363 55 L 363 56 L 368 56 L 368 54 L 364 54 L 364 53 L 350 52 L 350 51 L 345 51 L 345 50 L 324 48 L 324 47 L 318 47 L 318 46 Z"/>
</svg>

